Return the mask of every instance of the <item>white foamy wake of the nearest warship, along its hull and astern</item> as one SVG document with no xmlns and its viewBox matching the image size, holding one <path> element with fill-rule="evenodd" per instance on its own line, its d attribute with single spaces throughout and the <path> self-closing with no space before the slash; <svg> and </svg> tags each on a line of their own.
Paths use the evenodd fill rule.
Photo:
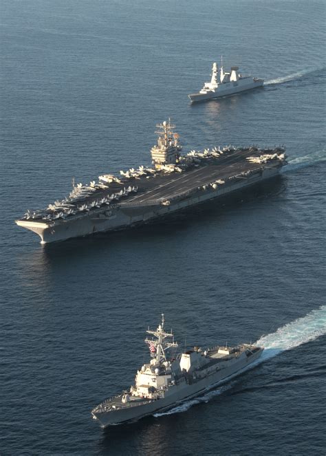
<svg viewBox="0 0 326 456">
<path fill-rule="evenodd" d="M 252 363 L 252 365 L 248 366 L 248 368 L 243 369 L 241 372 L 248 371 L 253 367 L 265 362 L 266 360 L 270 360 L 274 358 L 274 356 L 279 355 L 282 351 L 291 350 L 299 345 L 303 345 L 307 342 L 315 340 L 320 336 L 324 336 L 326 334 L 326 305 L 322 305 L 316 310 L 312 310 L 306 316 L 302 318 L 298 318 L 292 323 L 287 323 L 277 329 L 276 332 L 268 334 L 267 336 L 262 336 L 255 345 L 259 345 L 264 347 L 265 350 L 263 354 L 259 358 L 259 360 Z M 239 374 L 235 374 L 235 377 Z M 228 380 L 229 380 L 228 379 Z M 200 402 L 208 402 L 208 400 L 214 398 L 217 395 L 221 395 L 224 391 L 231 389 L 236 384 L 236 381 L 229 382 L 228 384 L 214 389 L 212 391 L 208 391 L 202 396 L 198 398 L 187 400 L 180 405 L 175 406 L 173 409 L 162 412 L 162 413 L 155 413 L 155 417 L 160 417 L 163 415 L 171 415 L 172 413 L 180 413 L 187 411 L 191 408 L 191 406 L 195 404 L 199 404 Z"/>
</svg>

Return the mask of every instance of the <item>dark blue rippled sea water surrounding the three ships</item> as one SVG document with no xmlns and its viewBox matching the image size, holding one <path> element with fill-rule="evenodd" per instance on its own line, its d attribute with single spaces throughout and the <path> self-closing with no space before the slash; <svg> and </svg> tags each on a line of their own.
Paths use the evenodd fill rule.
<svg viewBox="0 0 326 456">
<path fill-rule="evenodd" d="M 325 2 L 3 0 L 0 454 L 325 455 Z M 212 62 L 261 90 L 190 105 Z M 14 225 L 102 173 L 285 144 L 274 181 L 164 224 L 41 246 Z M 102 431 L 161 312 L 177 340 L 262 362 L 173 413 Z"/>
</svg>

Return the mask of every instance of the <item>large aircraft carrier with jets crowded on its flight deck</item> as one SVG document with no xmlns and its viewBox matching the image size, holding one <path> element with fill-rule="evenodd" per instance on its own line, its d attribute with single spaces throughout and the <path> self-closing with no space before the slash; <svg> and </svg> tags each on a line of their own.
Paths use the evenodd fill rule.
<svg viewBox="0 0 326 456">
<path fill-rule="evenodd" d="M 39 235 L 41 243 L 127 228 L 239 191 L 273 177 L 286 164 L 283 147 L 215 146 L 182 155 L 171 121 L 157 128 L 151 167 L 74 185 L 65 199 L 28 210 L 17 225 Z"/>
</svg>

